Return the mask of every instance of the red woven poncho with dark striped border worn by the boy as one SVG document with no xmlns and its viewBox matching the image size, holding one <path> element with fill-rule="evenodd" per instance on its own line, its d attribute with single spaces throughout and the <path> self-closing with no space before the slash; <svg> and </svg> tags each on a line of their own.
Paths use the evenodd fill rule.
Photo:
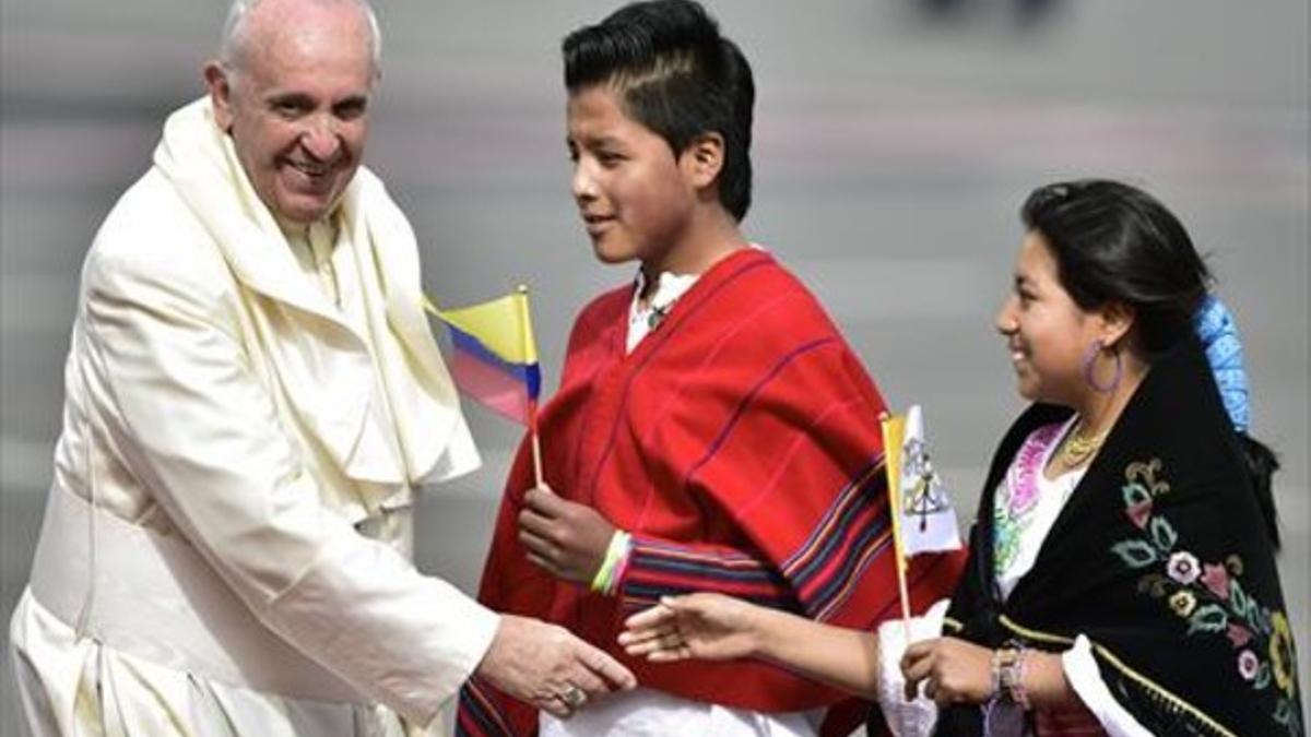
<svg viewBox="0 0 1311 737">
<path fill-rule="evenodd" d="M 617 597 L 526 557 L 517 518 L 532 463 L 520 447 L 480 601 L 561 624 L 682 698 L 764 712 L 843 700 L 771 664 L 649 664 L 615 639 L 627 615 L 691 591 L 863 629 L 895 615 L 878 391 L 815 298 L 762 250 L 716 264 L 625 354 L 631 300 L 625 286 L 582 311 L 540 416 L 547 484 L 633 535 Z M 912 567 L 912 606 L 949 595 L 958 570 L 960 556 Z M 535 727 L 532 708 L 486 683 L 461 696 L 460 733 Z"/>
</svg>

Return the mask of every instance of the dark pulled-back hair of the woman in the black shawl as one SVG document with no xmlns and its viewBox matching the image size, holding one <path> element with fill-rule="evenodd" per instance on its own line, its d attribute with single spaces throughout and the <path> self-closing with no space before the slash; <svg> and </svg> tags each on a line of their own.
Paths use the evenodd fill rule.
<svg viewBox="0 0 1311 737">
<path fill-rule="evenodd" d="M 1061 286 L 1082 309 L 1118 302 L 1134 311 L 1131 340 L 1151 362 L 1193 334 L 1211 273 L 1183 223 L 1146 191 L 1108 180 L 1038 188 L 1020 209 L 1042 236 Z M 1270 477 L 1274 452 L 1238 430 L 1252 490 L 1276 548 L 1280 532 Z"/>
</svg>

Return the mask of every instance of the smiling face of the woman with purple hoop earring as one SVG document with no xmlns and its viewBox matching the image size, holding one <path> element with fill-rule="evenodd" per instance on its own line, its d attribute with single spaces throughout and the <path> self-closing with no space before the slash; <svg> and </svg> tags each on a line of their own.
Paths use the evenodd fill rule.
<svg viewBox="0 0 1311 737">
<path fill-rule="evenodd" d="M 1084 362 L 1103 336 L 1099 312 L 1084 312 L 1061 286 L 1057 260 L 1046 239 L 1029 231 L 1020 247 L 1015 285 L 996 315 L 996 329 L 1011 350 L 1020 396 L 1032 401 L 1079 407 L 1093 391 Z M 1095 368 L 1109 371 L 1103 358 Z"/>
</svg>

